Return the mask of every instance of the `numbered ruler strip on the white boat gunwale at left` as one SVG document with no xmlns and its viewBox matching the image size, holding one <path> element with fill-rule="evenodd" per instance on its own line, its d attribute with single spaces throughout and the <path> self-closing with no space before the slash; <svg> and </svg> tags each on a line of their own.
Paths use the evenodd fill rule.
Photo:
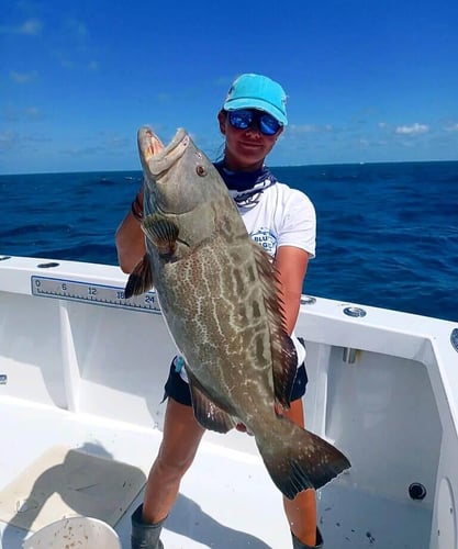
<svg viewBox="0 0 458 549">
<path fill-rule="evenodd" d="M 67 301 L 78 301 L 92 305 L 127 309 L 147 313 L 160 313 L 159 302 L 155 291 L 134 295 L 129 300 L 124 296 L 124 288 L 98 284 L 80 280 L 67 280 L 51 277 L 31 277 L 32 294 L 41 298 L 54 298 Z"/>
</svg>

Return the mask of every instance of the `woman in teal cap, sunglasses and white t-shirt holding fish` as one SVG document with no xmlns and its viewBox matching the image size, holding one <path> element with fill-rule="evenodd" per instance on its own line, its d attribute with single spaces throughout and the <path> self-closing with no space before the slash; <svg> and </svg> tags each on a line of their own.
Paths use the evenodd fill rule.
<svg viewBox="0 0 458 549">
<path fill-rule="evenodd" d="M 286 347 L 288 345 L 290 347 L 284 352 L 288 354 L 287 361 L 293 361 L 293 374 L 283 380 L 288 386 L 284 402 L 278 399 L 276 388 L 275 411 L 277 418 L 284 416 L 303 428 L 302 396 L 308 381 L 304 367 L 305 349 L 294 336 L 293 329 L 299 314 L 302 283 L 309 259 L 315 253 L 315 212 L 305 194 L 278 182 L 264 165 L 266 156 L 288 123 L 284 91 L 279 83 L 265 76 L 242 75 L 232 85 L 223 108 L 217 114 L 217 121 L 221 133 L 225 136 L 225 149 L 223 160 L 214 166 L 225 182 L 248 234 L 273 260 L 277 272 L 276 284 L 282 302 L 281 329 L 290 336 L 286 336 L 288 341 L 284 339 L 281 341 Z M 147 152 L 146 156 L 152 157 L 157 143 L 154 142 L 156 137 L 152 133 L 149 137 L 152 138 L 150 152 Z M 146 161 L 143 161 L 144 169 Z M 171 222 L 158 220 L 156 213 L 152 214 L 147 202 L 153 200 L 152 195 L 156 192 L 146 193 L 146 187 L 145 181 L 132 203 L 131 212 L 116 232 L 120 266 L 124 272 L 132 273 L 126 287 L 130 293 L 145 291 L 146 278 L 149 285 L 152 283 L 152 278 L 145 277 L 145 270 L 149 269 L 147 254 L 145 255 L 149 249 L 148 238 L 157 253 L 156 264 L 166 261 L 177 249 L 190 247 L 190 240 L 188 242 L 185 237 L 180 239 L 178 236 L 186 233 L 179 233 L 178 228 L 175 233 Z M 144 257 L 146 259 L 142 261 Z M 267 261 L 267 267 L 265 265 L 265 270 L 269 270 L 268 264 L 269 261 Z M 155 273 L 153 279 L 154 285 L 157 287 L 158 279 Z M 163 303 L 159 289 L 158 293 L 163 312 L 165 312 L 166 299 Z M 175 337 L 174 329 L 170 332 Z M 209 388 L 205 389 L 203 381 L 198 380 L 199 370 L 191 368 L 190 355 L 186 354 L 178 340 L 176 343 L 186 360 L 181 356 L 174 359 L 165 385 L 168 400 L 164 437 L 149 473 L 144 503 L 132 516 L 133 549 L 163 547 L 159 539 L 161 526 L 177 498 L 180 481 L 193 461 L 205 430 L 204 427 L 224 433 L 235 426 L 239 430 L 253 432 L 258 444 L 255 422 L 253 426 L 250 424 L 252 415 L 247 413 L 242 421 L 239 417 L 242 414 L 236 415 L 234 411 L 241 411 L 243 405 L 238 408 L 236 404 L 234 407 L 231 407 L 232 404 L 224 407 L 221 404 L 224 399 L 219 401 L 217 395 L 213 394 Z M 202 402 L 199 401 L 198 404 L 197 401 L 200 399 Z M 221 404 L 222 408 L 221 417 L 213 418 L 214 423 L 211 425 L 205 423 L 206 416 L 199 412 L 199 406 L 205 406 L 206 400 L 213 400 L 216 404 Z M 273 400 L 271 402 L 270 407 L 273 408 Z M 219 410 L 217 406 L 206 410 L 214 410 L 214 407 Z M 309 433 L 308 436 L 319 438 Z M 321 442 L 325 445 L 320 446 L 321 457 L 325 457 L 320 460 L 320 463 L 325 462 L 323 467 L 327 469 L 319 471 L 322 466 L 317 462 L 312 463 L 310 475 L 306 477 L 304 473 L 306 479 L 299 489 L 294 490 L 289 488 L 288 480 L 284 484 L 283 479 L 276 480 L 275 471 L 269 467 L 268 458 L 262 453 L 261 445 L 258 444 L 273 482 L 283 492 L 284 511 L 291 527 L 294 549 L 323 547 L 322 537 L 316 527 L 315 492 L 305 488 L 320 488 L 349 466 L 338 450 L 324 441 Z M 312 444 L 315 441 L 310 442 Z M 309 450 L 310 447 L 308 447 Z M 308 455 L 310 459 L 310 452 Z M 316 473 L 315 477 L 313 477 L 314 473 Z"/>
</svg>

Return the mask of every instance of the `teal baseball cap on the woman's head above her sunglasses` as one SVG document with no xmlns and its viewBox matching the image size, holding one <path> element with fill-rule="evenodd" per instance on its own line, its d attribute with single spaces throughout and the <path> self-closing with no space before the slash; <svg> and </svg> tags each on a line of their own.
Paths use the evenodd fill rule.
<svg viewBox="0 0 458 549">
<path fill-rule="evenodd" d="M 286 126 L 287 94 L 283 88 L 267 76 L 247 74 L 234 80 L 224 101 L 225 111 L 258 109 L 271 114 Z"/>
</svg>

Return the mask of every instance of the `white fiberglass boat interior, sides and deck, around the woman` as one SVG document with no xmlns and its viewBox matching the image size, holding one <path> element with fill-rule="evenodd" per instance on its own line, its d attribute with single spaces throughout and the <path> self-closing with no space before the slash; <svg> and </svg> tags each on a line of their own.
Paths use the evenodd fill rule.
<svg viewBox="0 0 458 549">
<path fill-rule="evenodd" d="M 111 266 L 0 256 L 5 549 L 22 547 L 44 514 L 64 506 L 88 515 L 89 469 L 78 472 L 81 500 L 62 491 L 55 461 L 46 468 L 49 456 L 64 451 L 65 462 L 75 450 L 135 473 L 137 493 L 108 491 L 105 500 L 119 497 L 112 526 L 130 547 L 175 348 L 155 293 L 126 301 L 125 280 Z M 308 349 L 308 428 L 351 461 L 317 493 L 325 547 L 458 549 L 458 323 L 304 296 L 297 332 Z M 291 547 L 281 495 L 253 438 L 205 434 L 163 541 Z"/>
</svg>

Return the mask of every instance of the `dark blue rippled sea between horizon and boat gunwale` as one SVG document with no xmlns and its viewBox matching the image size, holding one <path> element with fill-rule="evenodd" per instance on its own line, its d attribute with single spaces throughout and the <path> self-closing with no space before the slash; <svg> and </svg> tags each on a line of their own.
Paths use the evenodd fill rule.
<svg viewBox="0 0 458 549">
<path fill-rule="evenodd" d="M 273 168 L 317 214 L 304 293 L 458 321 L 458 161 Z M 115 265 L 139 171 L 0 176 L 0 255 Z"/>
</svg>

